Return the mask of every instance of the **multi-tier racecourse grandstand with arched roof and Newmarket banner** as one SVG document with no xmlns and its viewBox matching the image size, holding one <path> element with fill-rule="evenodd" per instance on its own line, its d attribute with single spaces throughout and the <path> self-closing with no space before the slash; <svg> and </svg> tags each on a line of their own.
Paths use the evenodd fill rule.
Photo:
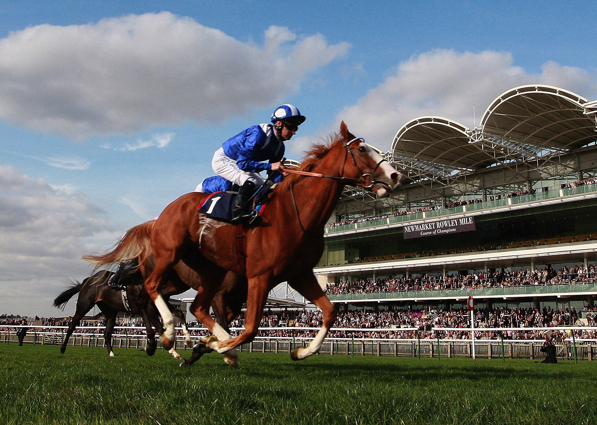
<svg viewBox="0 0 597 425">
<path fill-rule="evenodd" d="M 347 188 L 315 272 L 340 311 L 593 309 L 597 101 L 516 87 L 467 128 L 415 118 L 383 153 L 390 198 Z"/>
</svg>

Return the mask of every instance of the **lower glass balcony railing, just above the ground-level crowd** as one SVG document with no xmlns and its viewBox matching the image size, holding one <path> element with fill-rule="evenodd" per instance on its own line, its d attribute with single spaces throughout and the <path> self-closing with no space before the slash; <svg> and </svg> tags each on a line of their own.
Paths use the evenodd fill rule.
<svg viewBox="0 0 597 425">
<path fill-rule="evenodd" d="M 569 292 L 592 292 L 597 290 L 596 282 L 587 282 L 584 284 L 562 284 L 562 285 L 527 285 L 523 287 L 504 287 L 504 288 L 472 288 L 457 290 L 432 290 L 432 291 L 400 291 L 400 292 L 377 292 L 367 294 L 334 294 L 328 295 L 331 301 L 350 301 L 350 300 L 385 300 L 385 299 L 405 299 L 405 300 L 424 300 L 426 298 L 462 298 L 469 297 L 487 297 L 488 295 L 540 295 L 540 294 L 563 294 Z"/>
</svg>

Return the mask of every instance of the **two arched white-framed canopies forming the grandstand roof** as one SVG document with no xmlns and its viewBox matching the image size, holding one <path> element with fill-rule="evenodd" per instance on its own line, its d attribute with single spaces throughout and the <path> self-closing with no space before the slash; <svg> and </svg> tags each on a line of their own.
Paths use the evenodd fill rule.
<svg viewBox="0 0 597 425">
<path fill-rule="evenodd" d="M 480 128 L 421 116 L 396 133 L 389 152 L 409 177 L 448 177 L 544 158 L 597 140 L 597 102 L 547 85 L 515 87 L 485 110 Z M 592 115 L 591 115 L 592 114 Z"/>
</svg>

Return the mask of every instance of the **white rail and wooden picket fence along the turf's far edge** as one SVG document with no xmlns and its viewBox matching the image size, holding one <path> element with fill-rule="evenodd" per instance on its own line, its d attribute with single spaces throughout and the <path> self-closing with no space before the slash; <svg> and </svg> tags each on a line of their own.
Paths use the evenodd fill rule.
<svg viewBox="0 0 597 425">
<path fill-rule="evenodd" d="M 39 326 L 39 325 L 0 325 L 0 343 L 18 342 L 17 329 L 27 328 L 23 343 L 26 344 L 61 344 L 67 327 L 64 326 Z M 84 326 L 78 327 L 69 340 L 69 346 L 104 347 L 103 331 L 105 327 Z M 181 328 L 176 328 L 181 331 Z M 231 331 L 242 331 L 243 328 L 231 328 Z M 146 335 L 144 327 L 115 327 L 112 334 L 112 345 L 118 348 L 144 349 Z M 292 335 L 285 336 L 258 336 L 254 341 L 240 347 L 241 352 L 260 353 L 290 353 L 296 347 L 304 346 L 312 336 L 302 335 L 304 331 L 318 331 L 313 327 L 287 327 L 287 328 L 260 328 L 262 331 L 286 331 Z M 540 352 L 543 346 L 542 339 L 516 340 L 505 338 L 488 340 L 478 339 L 474 342 L 470 338 L 470 328 L 432 328 L 436 335 L 440 332 L 460 332 L 463 338 L 362 338 L 354 337 L 357 332 L 398 332 L 411 331 L 415 335 L 426 335 L 418 328 L 332 328 L 333 331 L 343 331 L 352 334 L 351 337 L 330 337 L 322 344 L 320 354 L 339 354 L 351 356 L 395 356 L 418 358 L 471 358 L 473 353 L 476 358 L 508 359 L 541 359 L 544 354 Z M 597 338 L 577 338 L 574 331 L 597 331 L 597 327 L 536 327 L 536 328 L 475 328 L 479 332 L 496 331 L 572 331 L 567 337 L 556 342 L 556 356 L 565 360 L 593 360 L 597 359 Z M 193 341 L 208 334 L 207 328 L 189 328 Z M 428 331 L 427 331 L 428 332 Z M 183 335 L 179 332 L 175 348 L 186 350 Z M 158 338 L 159 339 L 159 338 Z M 159 342 L 158 342 L 159 344 Z M 474 347 L 473 347 L 474 344 Z M 159 346 L 159 345 L 158 345 Z"/>
</svg>

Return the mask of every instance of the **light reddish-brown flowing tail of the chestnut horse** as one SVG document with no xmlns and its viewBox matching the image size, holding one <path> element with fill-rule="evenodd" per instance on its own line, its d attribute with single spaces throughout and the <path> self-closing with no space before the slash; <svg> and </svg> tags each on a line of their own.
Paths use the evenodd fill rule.
<svg viewBox="0 0 597 425">
<path fill-rule="evenodd" d="M 112 251 L 106 254 L 83 255 L 81 258 L 97 264 L 96 269 L 105 264 L 119 263 L 133 258 L 137 258 L 139 264 L 142 264 L 152 254 L 149 238 L 154 223 L 155 220 L 146 221 L 129 229 Z"/>
</svg>

